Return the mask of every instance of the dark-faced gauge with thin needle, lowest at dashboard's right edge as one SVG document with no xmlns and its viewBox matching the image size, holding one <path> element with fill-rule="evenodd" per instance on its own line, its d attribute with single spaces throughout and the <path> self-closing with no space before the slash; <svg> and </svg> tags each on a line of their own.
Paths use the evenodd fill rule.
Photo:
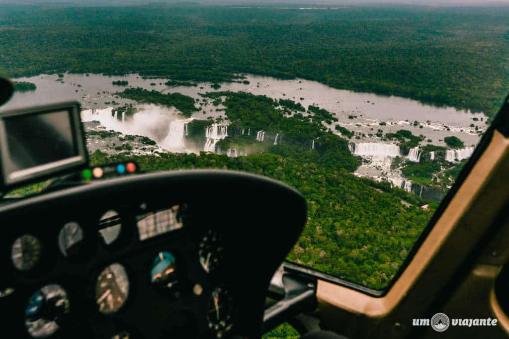
<svg viewBox="0 0 509 339">
<path fill-rule="evenodd" d="M 207 311 L 209 328 L 215 331 L 218 338 L 233 326 L 234 307 L 228 290 L 217 288 L 212 291 Z"/>
</svg>

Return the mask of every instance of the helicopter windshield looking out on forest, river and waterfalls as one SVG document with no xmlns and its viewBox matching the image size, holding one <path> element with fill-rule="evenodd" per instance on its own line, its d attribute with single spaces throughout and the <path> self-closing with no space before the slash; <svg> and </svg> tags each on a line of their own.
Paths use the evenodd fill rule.
<svg viewBox="0 0 509 339">
<path fill-rule="evenodd" d="M 288 261 L 372 290 L 509 84 L 508 7 L 110 3 L 0 4 L 0 111 L 78 101 L 92 164 L 283 181 L 308 205 Z"/>
</svg>

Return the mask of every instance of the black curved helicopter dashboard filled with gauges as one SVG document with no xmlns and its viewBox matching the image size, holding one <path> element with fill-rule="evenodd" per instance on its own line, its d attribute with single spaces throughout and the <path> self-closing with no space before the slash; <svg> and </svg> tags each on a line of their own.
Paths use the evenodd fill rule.
<svg viewBox="0 0 509 339">
<path fill-rule="evenodd" d="M 10 337 L 257 338 L 301 195 L 227 171 L 131 175 L 0 206 Z"/>
</svg>

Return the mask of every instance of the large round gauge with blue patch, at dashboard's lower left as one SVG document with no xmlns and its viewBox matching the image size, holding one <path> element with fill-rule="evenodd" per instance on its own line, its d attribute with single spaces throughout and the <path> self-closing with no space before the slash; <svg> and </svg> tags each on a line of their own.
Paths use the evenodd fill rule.
<svg viewBox="0 0 509 339">
<path fill-rule="evenodd" d="M 34 338 L 54 334 L 69 313 L 69 299 L 60 285 L 47 285 L 34 293 L 25 310 L 25 326 Z"/>
</svg>

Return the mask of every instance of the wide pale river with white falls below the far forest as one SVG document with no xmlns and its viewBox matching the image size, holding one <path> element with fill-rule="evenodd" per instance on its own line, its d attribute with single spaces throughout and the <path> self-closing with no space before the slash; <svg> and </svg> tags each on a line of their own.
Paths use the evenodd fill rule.
<svg viewBox="0 0 509 339">
<path fill-rule="evenodd" d="M 43 74 L 33 77 L 14 79 L 15 81 L 29 81 L 37 86 L 34 92 L 17 92 L 13 98 L 0 110 L 26 107 L 43 103 L 78 100 L 84 108 L 82 119 L 84 121 L 98 120 L 107 129 L 115 129 L 122 133 L 139 134 L 153 138 L 158 143 L 166 139 L 165 135 L 171 129 L 173 121 L 183 119 L 179 112 L 173 108 L 156 105 L 137 105 L 139 112 L 135 119 L 122 122 L 111 116 L 111 101 L 121 105 L 133 103 L 129 99 L 115 96 L 116 92 L 122 92 L 125 86 L 115 86 L 114 80 L 126 80 L 129 87 L 142 87 L 148 90 L 156 90 L 163 93 L 182 93 L 195 99 L 202 97 L 200 93 L 216 91 L 245 91 L 255 95 L 266 95 L 274 99 L 291 99 L 300 102 L 304 107 L 316 105 L 320 108 L 334 112 L 339 119 L 337 123 L 328 126 L 334 129 L 338 124 L 356 133 L 350 139 L 351 143 L 385 143 L 381 142 L 375 134 L 378 130 L 383 133 L 395 132 L 399 129 L 408 129 L 414 135 L 423 135 L 425 140 L 421 146 L 427 144 L 446 146 L 443 142 L 445 136 L 454 135 L 459 137 L 465 146 L 475 146 L 479 142 L 479 134 L 487 128 L 487 117 L 482 113 L 472 113 L 467 110 L 459 110 L 453 107 L 437 107 L 423 104 L 416 100 L 395 97 L 380 96 L 371 93 L 356 93 L 346 90 L 338 90 L 328 87 L 316 81 L 305 79 L 281 80 L 268 76 L 246 74 L 249 84 L 237 82 L 222 82 L 220 89 L 211 88 L 210 82 L 199 82 L 198 87 L 168 87 L 164 84 L 167 78 L 143 79 L 138 74 L 127 76 L 105 76 L 100 74 L 64 74 L 59 79 L 56 74 Z M 151 84 L 154 85 L 151 85 Z M 95 115 L 92 116 L 92 109 Z M 195 119 L 218 117 L 224 115 L 222 105 L 213 106 L 212 100 L 203 104 L 200 111 L 193 113 Z M 205 111 L 205 114 L 204 114 Z M 475 119 L 475 120 L 474 120 Z M 414 124 L 414 122 L 417 122 Z M 382 125 L 380 125 L 382 124 Z M 471 124 L 474 127 L 471 127 Z M 414 126 L 415 125 L 415 126 Z M 475 129 L 477 126 L 477 130 Z M 179 129 L 175 129 L 179 130 Z M 371 136 L 370 136 L 371 134 Z M 357 136 L 359 138 L 357 138 Z M 173 152 L 197 152 L 181 145 L 181 143 L 169 143 L 180 148 L 167 147 Z M 365 146 L 365 145 L 360 145 Z M 357 149 L 361 149 L 357 146 Z M 362 149 L 375 149 L 363 147 Z M 377 148 L 370 154 L 362 154 L 362 157 L 371 163 L 363 164 L 356 171 L 357 175 L 370 176 L 373 178 L 401 178 L 399 170 L 390 170 L 392 154 L 380 153 L 386 147 Z"/>
</svg>

